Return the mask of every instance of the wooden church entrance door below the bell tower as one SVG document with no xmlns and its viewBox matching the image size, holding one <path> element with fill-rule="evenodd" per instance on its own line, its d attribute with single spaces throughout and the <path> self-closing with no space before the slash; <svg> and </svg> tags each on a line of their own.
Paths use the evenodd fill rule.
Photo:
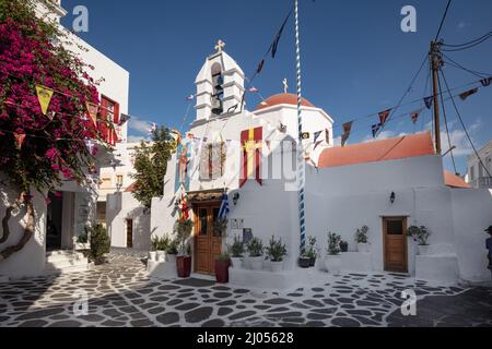
<svg viewBox="0 0 492 349">
<path fill-rule="evenodd" d="M 220 204 L 198 205 L 195 209 L 195 272 L 215 275 L 215 257 L 222 252 L 222 237 L 213 231 Z"/>
</svg>

